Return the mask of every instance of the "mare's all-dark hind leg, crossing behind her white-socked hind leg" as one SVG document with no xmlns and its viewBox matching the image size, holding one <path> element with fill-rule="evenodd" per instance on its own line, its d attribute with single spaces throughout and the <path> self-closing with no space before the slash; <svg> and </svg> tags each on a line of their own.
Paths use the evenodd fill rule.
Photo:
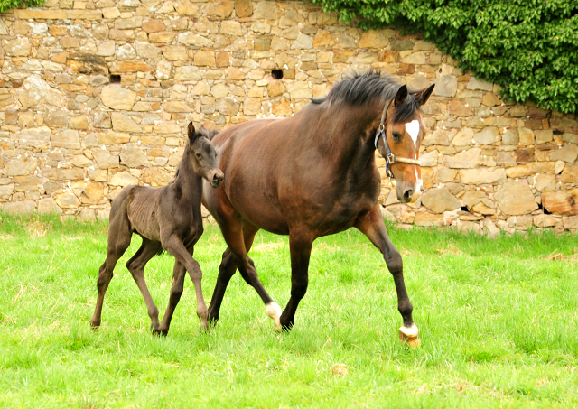
<svg viewBox="0 0 578 409">
<path fill-rule="evenodd" d="M 259 229 L 253 225 L 247 223 L 243 224 L 243 239 L 245 241 L 247 252 L 251 249 L 251 246 L 253 246 L 253 240 L 255 239 L 258 230 Z M 227 250 L 223 253 L 223 258 L 219 266 L 219 276 L 217 278 L 217 284 L 215 284 L 215 291 L 210 299 L 209 322 L 211 324 L 215 324 L 219 321 L 221 302 L 223 302 L 228 282 L 237 271 L 237 268 L 237 258 L 233 256 L 230 248 L 227 247 Z"/>
</svg>

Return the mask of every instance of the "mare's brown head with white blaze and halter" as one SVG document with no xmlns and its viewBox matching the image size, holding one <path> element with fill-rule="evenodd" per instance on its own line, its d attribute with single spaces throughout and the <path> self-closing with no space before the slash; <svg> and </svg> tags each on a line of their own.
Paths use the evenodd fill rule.
<svg viewBox="0 0 578 409">
<path fill-rule="evenodd" d="M 397 199 L 407 203 L 424 191 L 419 166 L 419 146 L 427 128 L 419 107 L 432 95 L 433 85 L 418 92 L 408 92 L 406 85 L 397 89 L 396 97 L 387 106 L 385 137 L 376 136 L 379 153 L 387 159 L 388 176 L 396 179 Z M 381 135 L 383 136 L 383 134 Z M 387 152 L 389 150 L 389 152 Z"/>
</svg>

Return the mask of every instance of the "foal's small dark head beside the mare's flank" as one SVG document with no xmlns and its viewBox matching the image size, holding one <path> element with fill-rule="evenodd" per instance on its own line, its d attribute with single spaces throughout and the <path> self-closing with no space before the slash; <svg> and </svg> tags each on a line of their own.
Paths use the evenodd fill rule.
<svg viewBox="0 0 578 409">
<path fill-rule="evenodd" d="M 190 155 L 192 168 L 200 177 L 209 181 L 213 188 L 218 188 L 223 181 L 224 174 L 217 163 L 217 153 L 210 143 L 210 131 L 204 126 L 196 131 L 192 122 L 187 128 L 189 144 L 185 147 L 185 154 Z"/>
</svg>

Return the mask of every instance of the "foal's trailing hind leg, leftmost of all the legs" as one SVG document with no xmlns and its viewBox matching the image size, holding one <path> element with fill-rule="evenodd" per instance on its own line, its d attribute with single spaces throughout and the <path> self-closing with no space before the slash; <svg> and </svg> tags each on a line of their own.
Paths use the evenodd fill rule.
<svg viewBox="0 0 578 409">
<path fill-rule="evenodd" d="M 108 226 L 107 259 L 104 264 L 100 266 L 98 272 L 97 306 L 95 307 L 94 314 L 90 319 L 90 325 L 92 328 L 98 328 L 100 326 L 102 304 L 105 299 L 108 284 L 110 283 L 110 280 L 112 280 L 113 270 L 115 269 L 115 265 L 117 265 L 118 259 L 125 254 L 126 248 L 130 246 L 131 237 L 132 232 L 130 230 L 128 218 L 126 218 L 126 212 L 123 212 L 121 209 L 120 211 L 112 213 L 110 225 Z"/>
</svg>

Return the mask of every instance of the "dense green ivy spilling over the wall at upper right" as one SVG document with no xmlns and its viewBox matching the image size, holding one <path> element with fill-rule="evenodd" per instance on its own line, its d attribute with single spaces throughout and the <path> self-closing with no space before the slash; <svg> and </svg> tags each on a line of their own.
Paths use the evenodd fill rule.
<svg viewBox="0 0 578 409">
<path fill-rule="evenodd" d="M 463 70 L 499 84 L 503 97 L 576 113 L 575 0 L 312 0 L 364 29 L 423 33 Z"/>
</svg>

